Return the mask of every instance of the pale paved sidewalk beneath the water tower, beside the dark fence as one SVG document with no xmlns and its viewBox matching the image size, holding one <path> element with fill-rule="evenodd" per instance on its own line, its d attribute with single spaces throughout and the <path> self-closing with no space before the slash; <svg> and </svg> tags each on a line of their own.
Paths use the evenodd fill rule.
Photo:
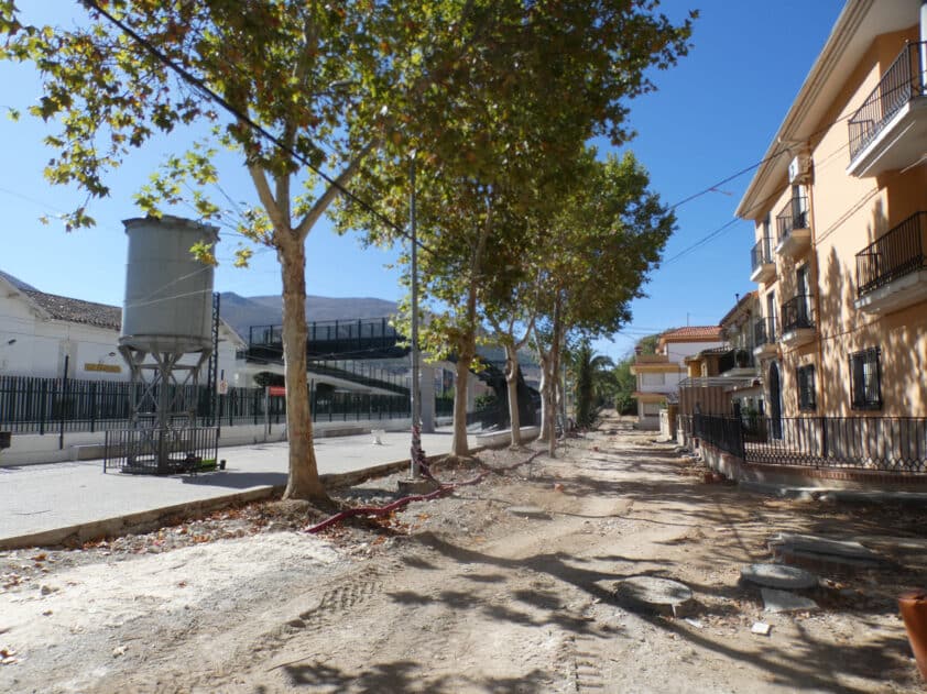
<svg viewBox="0 0 927 694">
<path fill-rule="evenodd" d="M 450 432 L 422 434 L 428 455 L 449 452 L 450 441 Z M 317 439 L 319 474 L 408 460 L 408 432 L 388 432 L 382 442 L 374 444 L 369 433 Z M 470 445 L 475 445 L 472 436 Z M 127 517 L 142 521 L 145 514 L 178 505 L 261 496 L 286 484 L 287 451 L 286 442 L 222 448 L 219 458 L 227 461 L 226 470 L 196 476 L 103 474 L 102 461 L 0 467 L 0 548 L 28 544 L 23 536 L 39 533 L 44 537 L 36 541 L 54 542 L 56 536 L 63 538 L 88 524 Z"/>
</svg>

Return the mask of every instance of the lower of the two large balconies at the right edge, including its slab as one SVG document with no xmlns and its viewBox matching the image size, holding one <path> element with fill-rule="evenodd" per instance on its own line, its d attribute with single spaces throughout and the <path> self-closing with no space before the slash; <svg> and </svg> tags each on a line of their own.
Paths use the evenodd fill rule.
<svg viewBox="0 0 927 694">
<path fill-rule="evenodd" d="M 927 212 L 917 212 L 857 253 L 859 310 L 887 313 L 927 300 L 925 233 Z"/>
</svg>

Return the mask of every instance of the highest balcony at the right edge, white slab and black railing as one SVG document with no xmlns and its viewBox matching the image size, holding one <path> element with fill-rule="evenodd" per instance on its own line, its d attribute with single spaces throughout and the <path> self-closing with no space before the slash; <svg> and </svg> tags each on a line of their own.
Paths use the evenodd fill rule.
<svg viewBox="0 0 927 694">
<path fill-rule="evenodd" d="M 850 166 L 858 178 L 905 168 L 927 141 L 927 43 L 908 43 L 848 124 Z"/>
</svg>

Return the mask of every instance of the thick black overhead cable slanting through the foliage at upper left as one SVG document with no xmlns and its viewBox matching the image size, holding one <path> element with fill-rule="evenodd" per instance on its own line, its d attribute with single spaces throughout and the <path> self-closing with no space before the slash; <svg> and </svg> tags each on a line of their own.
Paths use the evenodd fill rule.
<svg viewBox="0 0 927 694">
<path fill-rule="evenodd" d="M 120 21 L 119 19 L 117 19 L 116 16 L 113 16 L 112 14 L 110 14 L 109 12 L 103 10 L 97 3 L 96 0 L 79 0 L 79 1 L 83 4 L 85 4 L 86 7 L 88 7 L 89 9 L 91 9 L 91 10 L 98 12 L 100 15 L 105 16 L 109 22 L 111 22 L 116 26 L 118 26 L 120 29 L 120 31 L 122 31 L 127 36 L 132 38 L 135 43 L 141 45 L 145 51 L 151 53 L 155 58 L 157 58 L 157 60 L 160 60 L 170 70 L 176 73 L 181 77 L 181 79 L 183 79 L 185 82 L 187 82 L 188 85 L 190 85 L 195 89 L 203 92 L 210 100 L 212 100 L 216 103 L 218 103 L 219 106 L 221 106 L 226 111 L 228 111 L 236 119 L 240 120 L 242 123 L 248 125 L 251 130 L 253 130 L 254 132 L 259 133 L 262 137 L 270 141 L 271 143 L 273 143 L 279 150 L 288 154 L 291 157 L 293 157 L 294 159 L 296 159 L 297 162 L 299 162 L 301 164 L 303 164 L 304 166 L 309 168 L 312 172 L 317 174 L 323 180 L 325 180 L 328 185 L 336 188 L 341 195 L 343 195 L 345 197 L 349 198 L 351 201 L 356 202 L 357 205 L 359 205 L 360 207 L 366 209 L 368 212 L 373 214 L 377 219 L 379 219 L 381 222 L 386 224 L 389 228 L 391 228 L 393 231 L 399 233 L 401 236 L 411 240 L 410 234 L 407 234 L 401 225 L 399 225 L 393 220 L 391 220 L 389 217 L 386 217 L 385 214 L 380 212 L 370 202 L 368 202 L 367 200 L 364 200 L 364 199 L 358 197 L 357 195 L 355 195 L 353 192 L 351 192 L 342 184 L 338 183 L 338 180 L 336 178 L 332 178 L 331 176 L 329 176 L 328 174 L 323 172 L 320 168 L 316 167 L 312 162 L 309 162 L 306 157 L 304 157 L 302 154 L 296 152 L 293 147 L 291 147 L 287 144 L 281 142 L 280 139 L 276 135 L 271 133 L 269 130 L 266 130 L 260 123 L 255 122 L 247 113 L 242 113 L 241 111 L 239 111 L 236 107 L 233 107 L 231 103 L 229 103 L 223 97 L 221 97 L 219 93 L 217 93 L 216 91 L 210 89 L 201 79 L 199 79 L 198 77 L 196 77 L 195 75 L 189 73 L 189 70 L 187 70 L 186 68 L 177 65 L 174 60 L 172 60 L 166 55 L 164 55 L 159 48 L 153 46 L 148 40 L 145 40 L 140 34 L 138 34 L 130 26 L 128 26 L 124 22 Z M 415 243 L 422 250 L 427 251 L 429 253 L 433 253 L 433 251 L 428 246 L 423 244 L 421 241 L 416 240 Z"/>
</svg>

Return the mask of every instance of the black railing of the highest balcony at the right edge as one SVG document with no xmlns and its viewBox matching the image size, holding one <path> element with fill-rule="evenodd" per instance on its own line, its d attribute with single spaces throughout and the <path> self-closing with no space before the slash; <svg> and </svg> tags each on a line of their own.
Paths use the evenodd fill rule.
<svg viewBox="0 0 927 694">
<path fill-rule="evenodd" d="M 882 75 L 875 89 L 848 121 L 850 161 L 881 133 L 908 101 L 927 93 L 924 88 L 924 53 L 927 43 L 908 43 Z"/>
</svg>

